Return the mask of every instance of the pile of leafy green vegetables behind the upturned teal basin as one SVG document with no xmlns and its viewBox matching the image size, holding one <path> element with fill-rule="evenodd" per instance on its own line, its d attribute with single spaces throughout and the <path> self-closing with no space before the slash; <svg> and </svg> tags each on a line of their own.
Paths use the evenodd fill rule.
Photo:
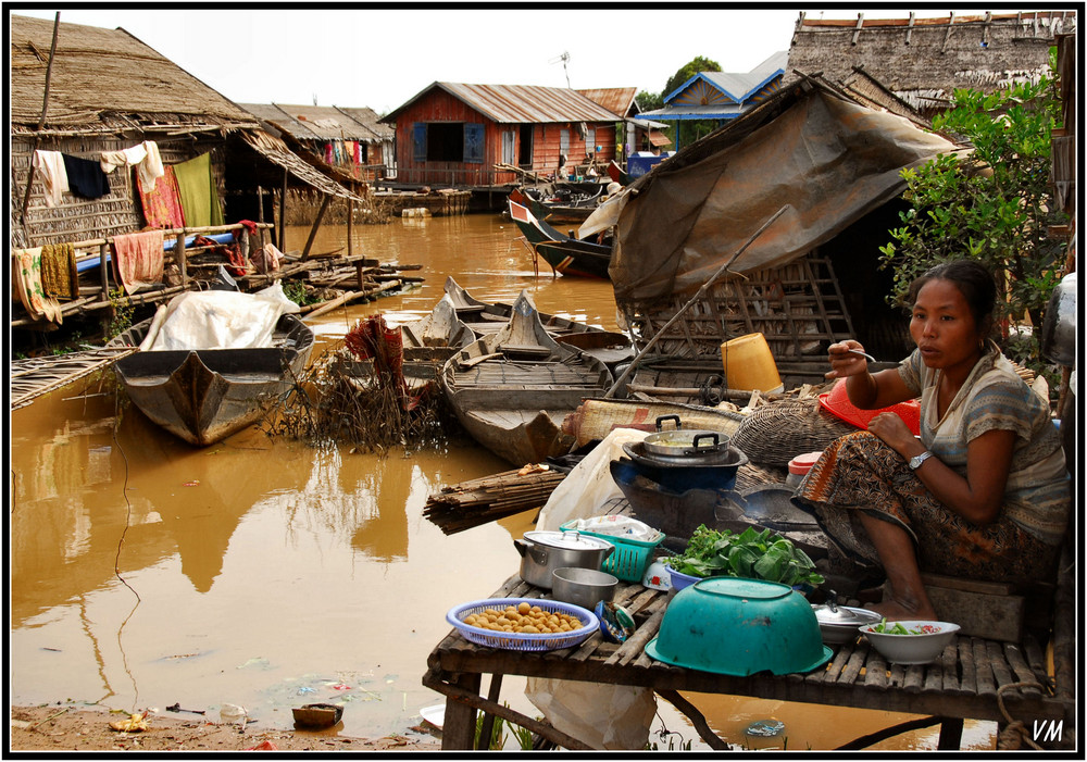
<svg viewBox="0 0 1087 762">
<path fill-rule="evenodd" d="M 751 526 L 736 535 L 703 524 L 691 534 L 683 554 L 664 559 L 664 563 L 695 577 L 746 577 L 789 587 L 823 583 L 804 551 L 770 529 L 758 532 Z"/>
</svg>

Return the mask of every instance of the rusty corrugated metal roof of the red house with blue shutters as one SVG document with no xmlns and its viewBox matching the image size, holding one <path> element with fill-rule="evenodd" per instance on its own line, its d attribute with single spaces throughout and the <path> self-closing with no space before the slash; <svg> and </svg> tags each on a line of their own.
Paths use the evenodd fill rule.
<svg viewBox="0 0 1087 762">
<path fill-rule="evenodd" d="M 395 109 L 383 121 L 395 121 L 398 113 L 434 88 L 445 90 L 453 98 L 499 124 L 623 121 L 622 116 L 589 100 L 577 90 L 565 87 L 463 85 L 448 82 L 434 83 L 403 105 Z"/>
</svg>

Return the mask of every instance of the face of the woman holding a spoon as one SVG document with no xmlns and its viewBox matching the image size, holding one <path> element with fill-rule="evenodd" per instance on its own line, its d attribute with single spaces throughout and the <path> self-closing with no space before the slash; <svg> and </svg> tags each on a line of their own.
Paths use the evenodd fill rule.
<svg viewBox="0 0 1087 762">
<path fill-rule="evenodd" d="M 980 355 L 982 335 L 966 298 L 951 280 L 933 279 L 917 293 L 910 336 L 928 367 L 967 373 Z"/>
</svg>

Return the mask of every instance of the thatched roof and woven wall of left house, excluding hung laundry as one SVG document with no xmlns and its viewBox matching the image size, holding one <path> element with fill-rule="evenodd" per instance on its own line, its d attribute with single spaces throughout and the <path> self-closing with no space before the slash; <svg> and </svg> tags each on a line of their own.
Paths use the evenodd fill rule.
<svg viewBox="0 0 1087 762">
<path fill-rule="evenodd" d="M 46 200 L 36 150 L 98 162 L 103 152 L 153 141 L 163 165 L 208 154 L 217 193 L 215 220 L 272 218 L 257 186 L 287 178 L 324 193 L 355 198 L 313 170 L 259 121 L 124 29 L 10 16 L 11 245 L 73 242 L 132 233 L 147 224 L 136 167 L 105 175 L 97 197 L 64 192 Z M 48 83 L 48 86 L 47 86 Z M 270 197 L 270 195 L 268 195 Z M 215 202 L 212 202 L 212 207 Z"/>
</svg>

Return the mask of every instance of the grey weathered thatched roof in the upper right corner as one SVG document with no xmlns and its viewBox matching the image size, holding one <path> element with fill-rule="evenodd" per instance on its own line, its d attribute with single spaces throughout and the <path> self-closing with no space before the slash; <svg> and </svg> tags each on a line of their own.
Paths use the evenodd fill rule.
<svg viewBox="0 0 1087 762">
<path fill-rule="evenodd" d="M 854 70 L 883 83 L 926 116 L 955 89 L 983 91 L 1049 73 L 1054 35 L 1074 32 L 1074 11 L 1030 11 L 921 18 L 809 18 L 801 13 L 789 47 L 786 84 L 800 74 L 844 80 Z"/>
</svg>

